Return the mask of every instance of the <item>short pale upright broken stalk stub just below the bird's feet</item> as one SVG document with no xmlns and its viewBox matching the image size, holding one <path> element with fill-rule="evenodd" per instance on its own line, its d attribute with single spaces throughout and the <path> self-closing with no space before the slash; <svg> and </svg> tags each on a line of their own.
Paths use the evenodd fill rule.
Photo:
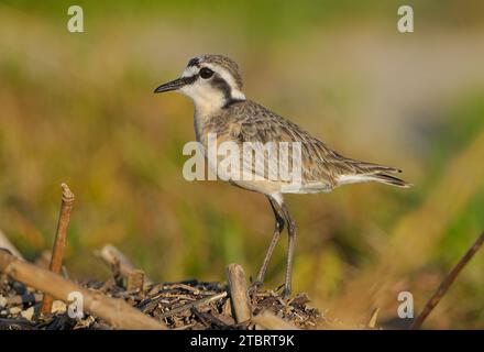
<svg viewBox="0 0 484 352">
<path fill-rule="evenodd" d="M 227 267 L 227 279 L 235 321 L 240 323 L 250 320 L 252 314 L 249 304 L 248 284 L 242 266 L 239 264 L 229 264 Z"/>
</svg>

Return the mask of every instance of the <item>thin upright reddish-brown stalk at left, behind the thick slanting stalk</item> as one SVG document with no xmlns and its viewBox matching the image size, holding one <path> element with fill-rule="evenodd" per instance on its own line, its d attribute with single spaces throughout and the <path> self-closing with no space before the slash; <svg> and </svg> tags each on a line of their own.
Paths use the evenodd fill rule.
<svg viewBox="0 0 484 352">
<path fill-rule="evenodd" d="M 64 251 L 66 248 L 67 229 L 69 228 L 70 212 L 74 206 L 74 194 L 70 191 L 66 184 L 61 185 L 63 189 L 63 197 L 61 202 L 61 213 L 57 222 L 57 231 L 55 233 L 54 249 L 52 250 L 50 270 L 53 273 L 61 273 L 63 266 Z M 50 314 L 52 310 L 52 304 L 54 299 L 45 295 L 42 302 L 42 314 Z"/>
</svg>

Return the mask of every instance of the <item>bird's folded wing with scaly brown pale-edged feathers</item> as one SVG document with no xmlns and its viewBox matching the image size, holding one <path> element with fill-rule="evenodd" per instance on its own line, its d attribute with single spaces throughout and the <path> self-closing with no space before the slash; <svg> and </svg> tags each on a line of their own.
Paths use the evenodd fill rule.
<svg viewBox="0 0 484 352">
<path fill-rule="evenodd" d="M 272 143 L 280 151 L 285 148 L 283 146 L 285 144 L 280 142 L 299 142 L 301 182 L 309 187 L 315 185 L 316 188 L 333 188 L 339 185 L 342 175 L 398 172 L 394 167 L 344 157 L 297 124 L 255 102 L 246 101 L 246 103 L 238 105 L 230 114 L 235 117 L 229 124 L 231 139 L 238 143 L 253 142 L 252 146 L 260 152 L 260 155 L 264 155 L 263 161 L 261 157 L 243 161 L 244 169 L 254 170 L 258 176 L 274 175 L 277 172 L 274 167 L 278 167 L 278 170 L 290 172 L 293 166 L 297 166 L 293 163 L 292 151 L 295 150 L 290 146 L 288 157 L 278 157 L 276 163 L 267 163 L 267 160 L 271 160 L 271 147 L 267 147 L 267 144 Z M 265 165 L 263 168 L 255 167 L 256 163 L 265 163 Z"/>
</svg>

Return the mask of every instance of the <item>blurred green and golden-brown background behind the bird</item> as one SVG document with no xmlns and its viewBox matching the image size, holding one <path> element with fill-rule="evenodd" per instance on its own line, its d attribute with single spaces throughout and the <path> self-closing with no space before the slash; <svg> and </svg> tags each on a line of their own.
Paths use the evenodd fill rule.
<svg viewBox="0 0 484 352">
<path fill-rule="evenodd" d="M 67 31 L 70 4 L 85 33 Z M 400 4 L 413 34 L 396 29 Z M 288 196 L 295 290 L 343 321 L 376 307 L 392 321 L 402 290 L 417 314 L 484 230 L 483 18 L 479 0 L 0 1 L 0 228 L 36 260 L 66 182 L 72 277 L 107 278 L 92 254 L 106 243 L 156 280 L 223 280 L 231 262 L 255 274 L 273 231 L 265 197 L 186 182 L 191 102 L 152 94 L 190 57 L 221 53 L 248 97 L 415 184 Z M 483 273 L 479 253 L 426 327 L 484 328 Z"/>
</svg>

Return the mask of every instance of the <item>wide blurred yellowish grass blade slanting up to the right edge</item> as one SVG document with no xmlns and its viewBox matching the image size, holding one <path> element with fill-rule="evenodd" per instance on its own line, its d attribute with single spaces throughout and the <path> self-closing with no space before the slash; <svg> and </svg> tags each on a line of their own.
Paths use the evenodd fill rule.
<svg viewBox="0 0 484 352">
<path fill-rule="evenodd" d="M 387 288 L 403 275 L 425 265 L 450 226 L 450 219 L 463 211 L 481 189 L 484 167 L 479 161 L 482 155 L 484 130 L 449 161 L 442 177 L 422 204 L 396 223 L 388 242 L 380 243 L 380 258 L 374 262 L 375 266 L 366 267 L 345 284 L 345 294 L 337 297 L 330 307 L 339 312 L 340 319 L 360 320 L 367 315 L 369 306 L 389 304 L 394 295 Z M 461 182 L 463 169 L 468 170 L 465 182 Z M 439 221 L 435 221 L 436 218 Z"/>
</svg>

